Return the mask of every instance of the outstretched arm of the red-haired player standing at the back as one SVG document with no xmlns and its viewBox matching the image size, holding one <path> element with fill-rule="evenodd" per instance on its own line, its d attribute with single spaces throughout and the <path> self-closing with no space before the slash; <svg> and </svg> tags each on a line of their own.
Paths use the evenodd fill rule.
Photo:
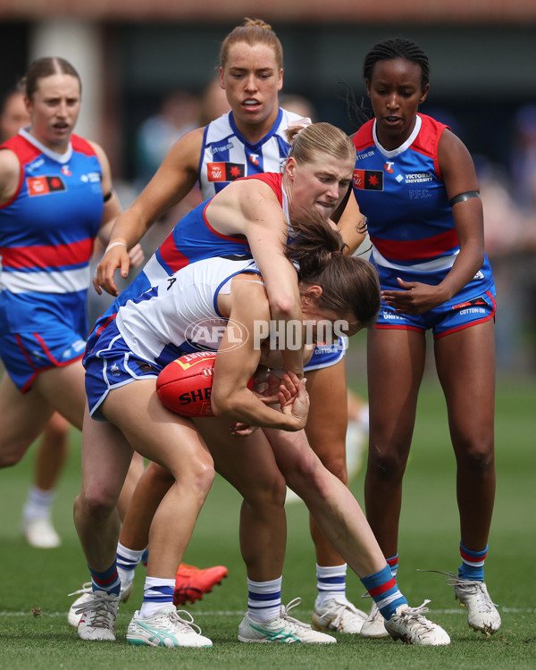
<svg viewBox="0 0 536 670">
<path fill-rule="evenodd" d="M 113 296 L 117 295 L 113 275 L 120 268 L 121 276 L 127 276 L 130 266 L 127 250 L 137 244 L 153 223 L 195 186 L 202 144 L 202 128 L 180 138 L 147 187 L 114 222 L 110 234 L 110 245 L 114 246 L 110 246 L 96 270 L 94 285 L 97 292 L 100 292 L 98 287 L 102 287 Z"/>
</svg>

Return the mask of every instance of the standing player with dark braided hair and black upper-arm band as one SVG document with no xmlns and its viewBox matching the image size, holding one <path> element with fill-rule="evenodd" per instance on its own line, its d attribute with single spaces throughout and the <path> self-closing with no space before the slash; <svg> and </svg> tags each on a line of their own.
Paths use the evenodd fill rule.
<svg viewBox="0 0 536 670">
<path fill-rule="evenodd" d="M 368 96 L 370 97 L 375 117 L 375 136 L 370 147 L 375 147 L 385 163 L 391 161 L 391 172 L 397 170 L 409 153 L 408 147 L 423 135 L 421 123 L 426 123 L 430 117 L 418 114 L 421 105 L 429 91 L 428 60 L 423 51 L 414 43 L 402 39 L 386 40 L 373 47 L 365 57 L 364 79 Z M 435 121 L 431 120 L 433 123 Z M 417 125 L 419 124 L 419 125 Z M 363 129 L 362 129 L 363 130 Z M 421 136 L 418 134 L 421 133 Z M 368 136 L 367 136 L 368 138 Z M 461 544 L 463 564 L 458 575 L 450 575 L 449 581 L 455 586 L 456 597 L 466 605 L 469 624 L 475 630 L 494 632 L 500 625 L 500 616 L 488 595 L 483 581 L 483 559 L 486 555 L 490 522 L 495 495 L 495 466 L 494 466 L 494 392 L 495 392 L 495 349 L 494 349 L 494 313 L 495 303 L 491 294 L 494 293 L 490 266 L 483 249 L 483 215 L 482 202 L 479 197 L 479 185 L 474 171 L 473 160 L 463 142 L 448 128 L 440 127 L 437 141 L 437 188 L 446 192 L 443 201 L 448 209 L 451 207 L 453 229 L 459 243 L 459 251 L 455 252 L 455 260 L 450 268 L 440 274 L 431 271 L 427 277 L 415 281 L 415 273 L 423 277 L 423 270 L 416 271 L 415 267 L 422 268 L 423 260 L 428 257 L 419 257 L 416 245 L 422 239 L 411 234 L 408 236 L 414 245 L 414 255 L 411 254 L 412 242 L 398 243 L 394 226 L 389 230 L 388 223 L 381 221 L 382 228 L 378 234 L 377 220 L 381 215 L 377 210 L 370 212 L 370 203 L 366 200 L 365 190 L 354 189 L 356 197 L 350 197 L 348 207 L 343 214 L 339 225 L 344 229 L 347 225 L 351 229 L 351 220 L 355 218 L 357 204 L 361 212 L 368 217 L 368 230 L 376 247 L 381 245 L 382 239 L 375 242 L 374 236 L 392 237 L 391 253 L 381 254 L 373 246 L 373 258 L 377 267 L 387 276 L 387 264 L 383 255 L 389 255 L 389 268 L 396 265 L 389 285 L 381 275 L 382 298 L 386 306 L 382 313 L 388 313 L 391 321 L 382 322 L 381 319 L 368 334 L 368 390 L 370 404 L 370 448 L 368 467 L 365 478 L 365 505 L 369 522 L 378 539 L 384 555 L 388 558 L 396 572 L 398 567 L 398 521 L 402 502 L 402 480 L 406 469 L 407 457 L 411 446 L 415 425 L 417 396 L 423 379 L 426 342 L 424 333 L 427 328 L 434 329 L 434 356 L 441 387 L 445 394 L 448 408 L 448 423 L 450 436 L 456 456 L 456 493 L 460 515 Z M 420 139 L 423 142 L 423 139 Z M 360 144 L 362 142 L 362 144 Z M 364 146 L 363 132 L 358 131 L 354 138 L 358 158 L 359 149 Z M 406 144 L 405 144 L 406 143 Z M 365 161 L 363 163 L 366 163 Z M 370 167 L 383 167 L 381 163 L 367 163 Z M 411 195 L 404 201 L 404 189 L 389 187 L 388 172 L 384 174 L 385 192 L 378 193 L 377 202 L 381 205 L 381 198 L 390 197 L 389 206 L 400 203 L 406 207 L 403 213 L 411 213 L 414 221 L 419 217 L 427 221 L 439 221 L 440 208 L 420 214 L 422 207 L 411 200 Z M 387 175 L 387 176 L 386 176 Z M 441 183 L 442 182 L 442 183 Z M 409 187 L 412 188 L 412 187 Z M 414 187 L 415 188 L 415 187 Z M 461 194 L 461 195 L 460 195 Z M 394 200 L 398 197 L 398 200 Z M 357 200 L 357 203 L 356 203 Z M 448 202 L 447 202 L 448 201 Z M 349 223 L 345 224 L 348 213 L 353 211 Z M 404 215 L 402 214 L 402 216 Z M 398 223 L 404 225 L 406 219 Z M 393 221 L 393 224 L 396 221 Z M 387 232 L 386 232 L 387 230 Z M 428 232 L 433 236 L 436 230 Z M 350 234 L 360 239 L 354 229 Z M 426 235 L 426 233 L 424 233 Z M 423 235 L 421 235 L 423 238 Z M 348 235 L 346 236 L 348 241 Z M 433 239 L 431 237 L 430 239 Z M 436 238 L 437 239 L 437 238 Z M 392 240 L 392 241 L 391 241 Z M 403 247 L 405 245 L 405 247 Z M 404 255 L 400 249 L 404 248 Z M 440 255 L 440 260 L 448 257 L 447 253 Z M 392 259 L 404 258 L 409 266 L 397 264 Z M 438 261 L 436 261 L 437 263 Z M 405 272 L 407 270 L 408 272 Z M 483 311 L 482 318 L 465 317 L 465 322 L 456 322 L 450 326 L 441 325 L 448 316 L 445 304 L 452 300 L 450 314 L 460 311 L 457 302 L 462 303 L 459 297 L 461 291 L 484 290 L 478 288 L 482 272 L 487 274 L 490 289 L 489 307 Z M 411 273 L 414 276 L 411 276 Z M 427 281 L 428 279 L 428 281 Z M 395 284 L 398 284 L 396 285 Z M 463 294 L 465 299 L 467 293 Z M 474 293 L 474 296 L 480 296 Z M 482 294 L 483 295 L 483 294 Z M 473 298 L 474 299 L 474 298 Z M 482 298 L 478 298 L 481 300 Z M 440 310 L 443 309 L 443 312 Z M 487 311 L 486 311 L 487 310 Z M 467 310 L 471 312 L 471 309 Z M 463 314 L 463 312 L 462 312 Z M 407 315 L 407 317 L 406 317 Z M 415 315 L 415 318 L 414 318 Z M 422 315 L 422 320 L 421 320 Z M 433 317 L 434 321 L 431 320 Z M 393 319 L 398 319 L 393 325 Z M 426 321 L 427 320 L 427 321 Z M 442 329 L 442 330 L 441 330 Z M 390 559 L 390 560 L 389 560 Z M 477 565 L 478 564 L 478 565 Z M 378 621 L 377 612 L 372 612 L 369 620 L 364 624 L 362 634 L 366 636 L 368 624 L 373 624 L 376 616 L 376 633 L 370 637 L 380 636 L 381 621 Z"/>
</svg>

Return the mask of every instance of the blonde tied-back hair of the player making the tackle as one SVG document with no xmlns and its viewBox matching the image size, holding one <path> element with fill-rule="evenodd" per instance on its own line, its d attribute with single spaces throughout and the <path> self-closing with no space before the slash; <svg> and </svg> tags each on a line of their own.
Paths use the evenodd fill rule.
<svg viewBox="0 0 536 670">
<path fill-rule="evenodd" d="M 356 160 L 356 147 L 348 135 L 331 123 L 311 123 L 286 131 L 291 145 L 289 158 L 297 163 L 311 163 L 318 154 L 331 155 L 340 160 Z"/>
</svg>

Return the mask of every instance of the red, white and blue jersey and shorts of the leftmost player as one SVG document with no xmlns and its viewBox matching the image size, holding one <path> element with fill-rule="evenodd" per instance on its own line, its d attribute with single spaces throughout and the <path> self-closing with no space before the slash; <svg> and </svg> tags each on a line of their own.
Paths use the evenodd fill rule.
<svg viewBox="0 0 536 670">
<path fill-rule="evenodd" d="M 76 135 L 65 154 L 27 130 L 1 148 L 17 155 L 21 177 L 0 206 L 0 355 L 13 381 L 28 389 L 40 369 L 83 353 L 89 261 L 103 216 L 102 169 L 93 147 Z"/>
</svg>

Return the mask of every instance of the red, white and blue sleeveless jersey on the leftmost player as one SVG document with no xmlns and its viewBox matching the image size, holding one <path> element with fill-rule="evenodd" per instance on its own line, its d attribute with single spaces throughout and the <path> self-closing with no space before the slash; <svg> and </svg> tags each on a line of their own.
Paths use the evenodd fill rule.
<svg viewBox="0 0 536 670">
<path fill-rule="evenodd" d="M 89 143 L 75 135 L 65 154 L 28 132 L 4 143 L 21 163 L 12 199 L 0 207 L 0 284 L 13 294 L 88 289 L 89 260 L 103 215 L 102 171 Z"/>
</svg>

